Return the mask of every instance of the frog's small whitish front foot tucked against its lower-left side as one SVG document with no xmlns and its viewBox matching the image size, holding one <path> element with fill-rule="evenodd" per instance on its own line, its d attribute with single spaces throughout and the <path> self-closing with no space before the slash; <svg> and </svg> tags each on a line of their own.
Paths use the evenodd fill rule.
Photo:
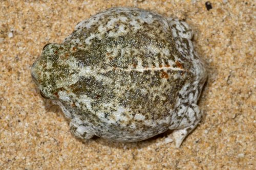
<svg viewBox="0 0 256 170">
<path fill-rule="evenodd" d="M 70 131 L 78 138 L 81 139 L 90 139 L 94 136 L 94 134 L 91 134 L 88 132 L 88 129 L 86 126 L 79 126 L 73 122 L 70 122 Z"/>
</svg>

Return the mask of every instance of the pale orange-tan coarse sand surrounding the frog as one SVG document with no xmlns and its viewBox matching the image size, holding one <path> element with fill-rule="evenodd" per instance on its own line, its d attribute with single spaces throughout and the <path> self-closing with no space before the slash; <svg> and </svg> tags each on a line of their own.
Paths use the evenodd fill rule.
<svg viewBox="0 0 256 170">
<path fill-rule="evenodd" d="M 225 2 L 225 1 L 224 1 Z M 255 1 L 1 1 L 0 169 L 255 169 Z M 254 4 L 253 4 L 254 3 Z M 209 66 L 205 116 L 183 142 L 82 143 L 40 97 L 30 66 L 49 42 L 103 9 L 132 6 L 185 19 Z"/>
</svg>

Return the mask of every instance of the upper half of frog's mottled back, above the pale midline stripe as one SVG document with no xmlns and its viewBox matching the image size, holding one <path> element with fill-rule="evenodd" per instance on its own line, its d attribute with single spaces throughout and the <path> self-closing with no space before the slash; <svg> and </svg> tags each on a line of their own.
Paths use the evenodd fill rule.
<svg viewBox="0 0 256 170">
<path fill-rule="evenodd" d="M 81 21 L 65 39 L 73 56 L 96 69 L 137 69 L 175 65 L 175 48 L 166 18 L 136 8 L 112 8 Z"/>
</svg>

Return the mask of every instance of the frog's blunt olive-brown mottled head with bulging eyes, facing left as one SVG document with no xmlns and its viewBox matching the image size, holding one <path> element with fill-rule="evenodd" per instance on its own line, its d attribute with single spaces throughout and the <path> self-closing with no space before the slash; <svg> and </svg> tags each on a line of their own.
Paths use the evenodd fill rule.
<svg viewBox="0 0 256 170">
<path fill-rule="evenodd" d="M 46 99 L 58 99 L 59 89 L 63 90 L 63 84 L 67 82 L 69 49 L 67 44 L 46 44 L 31 67 L 31 76 Z"/>
</svg>

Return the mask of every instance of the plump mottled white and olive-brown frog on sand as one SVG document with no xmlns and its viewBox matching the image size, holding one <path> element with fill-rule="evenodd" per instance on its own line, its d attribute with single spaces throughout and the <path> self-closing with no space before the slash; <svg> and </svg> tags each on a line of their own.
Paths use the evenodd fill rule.
<svg viewBox="0 0 256 170">
<path fill-rule="evenodd" d="M 137 142 L 172 130 L 179 148 L 200 123 L 207 79 L 192 38 L 178 18 L 114 7 L 79 22 L 62 43 L 46 44 L 31 76 L 77 138 Z"/>
</svg>

